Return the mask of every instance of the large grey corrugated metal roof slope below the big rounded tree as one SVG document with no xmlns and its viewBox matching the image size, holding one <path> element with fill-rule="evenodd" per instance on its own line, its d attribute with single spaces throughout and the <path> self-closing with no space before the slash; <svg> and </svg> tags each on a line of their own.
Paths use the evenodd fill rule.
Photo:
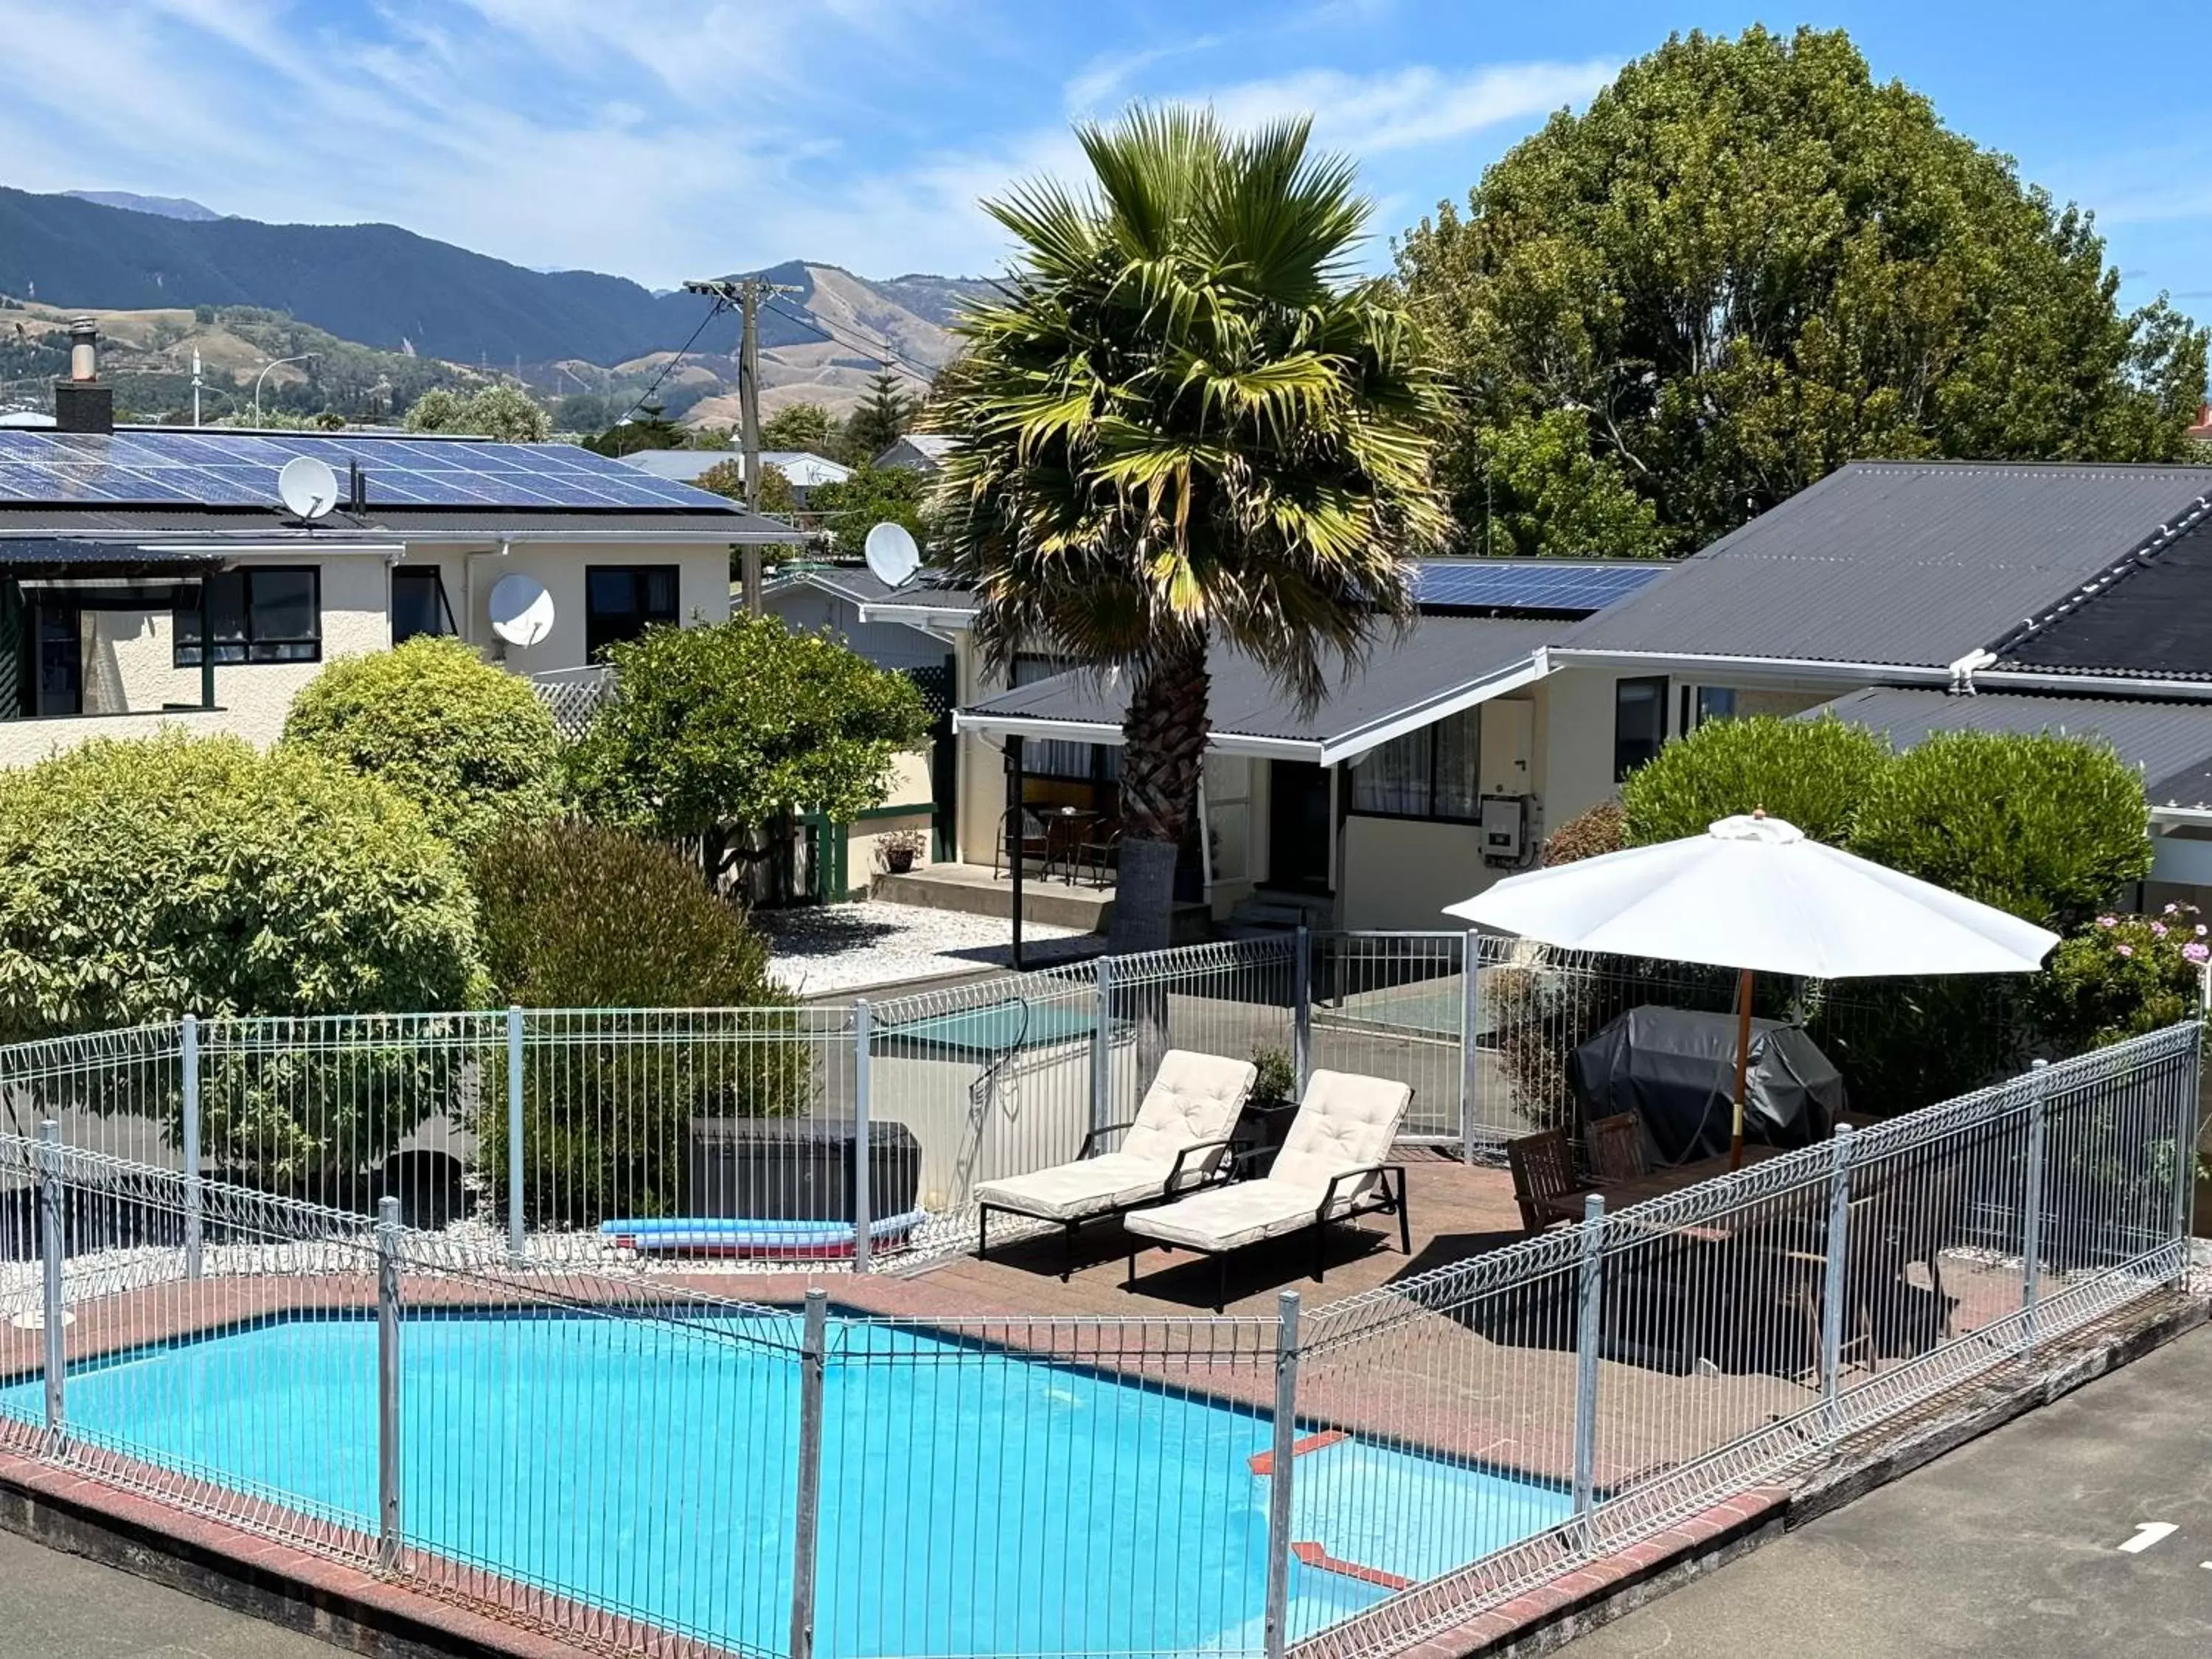
<svg viewBox="0 0 2212 1659">
<path fill-rule="evenodd" d="M 2201 467 L 1860 460 L 1559 646 L 1947 668 L 2208 493 Z"/>
</svg>

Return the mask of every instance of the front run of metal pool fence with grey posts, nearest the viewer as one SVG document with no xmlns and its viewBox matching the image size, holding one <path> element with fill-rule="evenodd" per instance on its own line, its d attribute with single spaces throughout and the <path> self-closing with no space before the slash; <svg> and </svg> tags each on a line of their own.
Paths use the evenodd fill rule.
<svg viewBox="0 0 2212 1659">
<path fill-rule="evenodd" d="M 2199 1044 L 1272 1318 L 761 1307 L 49 1124 L 0 1444 L 613 1652 L 1398 1652 L 2177 1285 Z"/>
</svg>

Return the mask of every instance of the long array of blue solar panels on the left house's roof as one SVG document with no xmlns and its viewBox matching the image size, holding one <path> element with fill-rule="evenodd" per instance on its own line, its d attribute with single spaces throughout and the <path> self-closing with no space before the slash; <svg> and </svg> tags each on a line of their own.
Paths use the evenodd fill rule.
<svg viewBox="0 0 2212 1659">
<path fill-rule="evenodd" d="M 276 471 L 314 456 L 361 462 L 369 507 L 728 509 L 719 495 L 571 445 L 321 434 L 0 429 L 0 502 L 274 507 Z"/>
</svg>

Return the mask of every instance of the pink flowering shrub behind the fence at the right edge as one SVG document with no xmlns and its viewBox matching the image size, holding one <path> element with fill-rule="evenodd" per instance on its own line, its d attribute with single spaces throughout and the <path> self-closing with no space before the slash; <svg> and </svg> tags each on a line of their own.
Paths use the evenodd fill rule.
<svg viewBox="0 0 2212 1659">
<path fill-rule="evenodd" d="M 2059 1053 L 2101 1048 L 2190 1020 L 2201 1006 L 2212 933 L 2190 905 L 2150 916 L 2106 911 L 2051 953 L 2037 1013 Z"/>
</svg>

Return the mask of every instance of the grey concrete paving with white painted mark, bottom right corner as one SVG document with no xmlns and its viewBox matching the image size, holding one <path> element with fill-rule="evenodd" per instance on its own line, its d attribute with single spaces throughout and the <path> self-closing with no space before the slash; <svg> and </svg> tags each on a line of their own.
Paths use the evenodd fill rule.
<svg viewBox="0 0 2212 1659">
<path fill-rule="evenodd" d="M 1564 1652 L 2212 1655 L 2212 1327 Z"/>
</svg>

